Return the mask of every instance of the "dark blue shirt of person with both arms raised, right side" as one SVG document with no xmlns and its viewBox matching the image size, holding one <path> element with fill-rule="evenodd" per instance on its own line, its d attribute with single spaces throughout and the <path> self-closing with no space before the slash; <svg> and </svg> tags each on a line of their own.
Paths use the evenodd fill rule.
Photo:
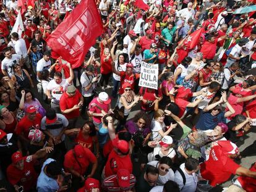
<svg viewBox="0 0 256 192">
<path fill-rule="evenodd" d="M 224 112 L 220 112 L 218 115 L 213 116 L 211 115 L 211 112 L 201 111 L 199 120 L 197 124 L 195 124 L 195 128 L 203 131 L 213 130 L 220 122 L 226 123 Z"/>
</svg>

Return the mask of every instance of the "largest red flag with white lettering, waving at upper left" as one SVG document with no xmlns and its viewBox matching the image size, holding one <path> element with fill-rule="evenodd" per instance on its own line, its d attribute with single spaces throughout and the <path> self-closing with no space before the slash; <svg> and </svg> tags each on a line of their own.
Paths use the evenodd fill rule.
<svg viewBox="0 0 256 192">
<path fill-rule="evenodd" d="M 72 68 L 76 68 L 102 33 L 103 25 L 95 1 L 83 0 L 46 42 L 56 54 L 72 64 Z"/>
</svg>

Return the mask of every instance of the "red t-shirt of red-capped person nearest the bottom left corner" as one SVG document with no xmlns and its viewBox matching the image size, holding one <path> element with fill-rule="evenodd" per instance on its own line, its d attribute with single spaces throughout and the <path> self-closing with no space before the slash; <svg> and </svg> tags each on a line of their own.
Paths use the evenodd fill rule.
<svg viewBox="0 0 256 192">
<path fill-rule="evenodd" d="M 12 185 L 20 183 L 24 191 L 28 191 L 36 185 L 37 176 L 31 156 L 23 157 L 23 170 L 17 169 L 13 164 L 7 168 L 7 178 Z"/>
</svg>

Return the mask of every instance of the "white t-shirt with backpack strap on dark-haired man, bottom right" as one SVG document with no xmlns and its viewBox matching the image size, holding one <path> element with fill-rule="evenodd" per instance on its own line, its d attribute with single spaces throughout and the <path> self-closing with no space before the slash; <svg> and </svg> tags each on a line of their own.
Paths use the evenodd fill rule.
<svg viewBox="0 0 256 192">
<path fill-rule="evenodd" d="M 185 164 L 181 164 L 179 168 L 181 168 L 182 172 L 186 177 L 186 183 L 185 185 L 183 184 L 183 178 L 181 176 L 181 173 L 179 173 L 179 171 L 177 170 L 175 172 L 174 182 L 179 185 L 179 190 L 182 189 L 181 192 L 194 192 L 197 188 L 197 174 L 192 173 L 192 175 L 189 175 L 185 170 Z"/>
</svg>

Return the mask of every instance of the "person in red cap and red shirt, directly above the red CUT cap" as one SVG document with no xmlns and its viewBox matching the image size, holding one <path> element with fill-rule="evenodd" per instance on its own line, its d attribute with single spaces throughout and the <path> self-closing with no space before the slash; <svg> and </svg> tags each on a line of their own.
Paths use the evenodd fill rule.
<svg viewBox="0 0 256 192">
<path fill-rule="evenodd" d="M 129 156 L 129 143 L 124 140 L 115 138 L 113 141 L 114 149 L 108 156 L 103 176 L 109 177 L 116 175 L 119 169 L 126 169 L 129 173 L 132 173 L 132 161 Z"/>
</svg>

